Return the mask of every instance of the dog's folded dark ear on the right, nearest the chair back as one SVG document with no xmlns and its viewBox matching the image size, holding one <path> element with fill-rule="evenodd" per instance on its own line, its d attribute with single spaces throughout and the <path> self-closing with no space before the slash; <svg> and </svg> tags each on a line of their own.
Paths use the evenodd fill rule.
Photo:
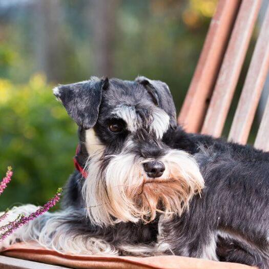
<svg viewBox="0 0 269 269">
<path fill-rule="evenodd" d="M 170 125 L 175 128 L 177 126 L 176 108 L 168 85 L 160 80 L 152 80 L 144 76 L 137 77 L 135 81 L 142 84 L 153 97 L 155 104 L 169 115 Z"/>
</svg>

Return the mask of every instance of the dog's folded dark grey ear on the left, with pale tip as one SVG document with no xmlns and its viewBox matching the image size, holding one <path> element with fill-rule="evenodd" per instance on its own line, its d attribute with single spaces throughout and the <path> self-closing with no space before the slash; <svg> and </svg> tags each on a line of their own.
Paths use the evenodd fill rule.
<svg viewBox="0 0 269 269">
<path fill-rule="evenodd" d="M 78 126 L 90 129 L 97 121 L 102 90 L 108 88 L 108 84 L 108 78 L 93 77 L 86 81 L 59 85 L 53 89 L 53 93 Z"/>
</svg>

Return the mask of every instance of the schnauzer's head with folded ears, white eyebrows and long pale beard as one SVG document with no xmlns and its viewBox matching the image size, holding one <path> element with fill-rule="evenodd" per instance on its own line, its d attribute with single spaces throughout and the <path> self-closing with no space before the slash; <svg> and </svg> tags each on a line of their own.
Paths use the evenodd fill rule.
<svg viewBox="0 0 269 269">
<path fill-rule="evenodd" d="M 82 193 L 94 223 L 147 222 L 156 212 L 181 214 L 203 188 L 195 160 L 162 141 L 177 125 L 164 82 L 93 77 L 58 86 L 54 95 L 79 126 L 85 144 L 88 177 Z"/>
</svg>

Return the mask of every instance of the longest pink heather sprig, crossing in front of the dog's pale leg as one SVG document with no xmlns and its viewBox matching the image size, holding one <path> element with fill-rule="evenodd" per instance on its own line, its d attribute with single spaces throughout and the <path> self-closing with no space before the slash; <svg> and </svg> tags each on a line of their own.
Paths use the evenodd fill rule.
<svg viewBox="0 0 269 269">
<path fill-rule="evenodd" d="M 0 241 L 6 239 L 9 235 L 11 235 L 15 230 L 19 227 L 27 224 L 29 221 L 37 218 L 38 216 L 43 215 L 45 212 L 49 211 L 60 199 L 62 189 L 59 188 L 57 193 L 54 195 L 52 199 L 50 199 L 46 204 L 40 206 L 35 212 L 31 213 L 28 216 L 19 215 L 14 221 L 9 222 L 7 225 L 1 227 L 1 230 L 7 230 L 3 234 L 0 235 Z M 3 229 L 2 229 L 3 228 Z"/>
</svg>

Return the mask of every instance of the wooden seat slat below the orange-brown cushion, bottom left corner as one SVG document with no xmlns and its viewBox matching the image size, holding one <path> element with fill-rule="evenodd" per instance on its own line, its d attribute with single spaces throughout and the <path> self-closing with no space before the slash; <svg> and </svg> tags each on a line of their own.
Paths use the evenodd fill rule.
<svg viewBox="0 0 269 269">
<path fill-rule="evenodd" d="M 0 268 L 4 269 L 67 269 L 57 265 L 27 261 L 0 255 Z"/>
</svg>

